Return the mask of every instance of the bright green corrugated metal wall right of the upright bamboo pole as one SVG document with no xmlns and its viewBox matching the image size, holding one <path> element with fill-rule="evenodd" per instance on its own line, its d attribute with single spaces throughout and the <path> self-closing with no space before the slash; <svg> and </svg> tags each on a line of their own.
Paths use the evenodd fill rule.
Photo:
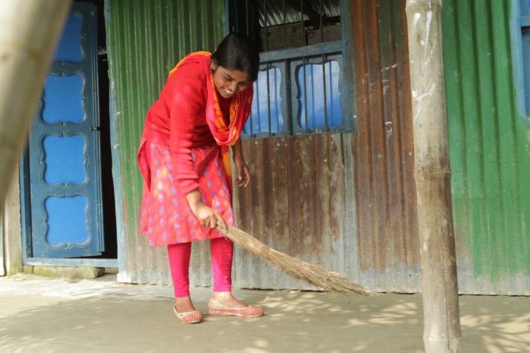
<svg viewBox="0 0 530 353">
<path fill-rule="evenodd" d="M 443 6 L 460 292 L 529 294 L 530 135 L 516 108 L 509 1 Z"/>
</svg>

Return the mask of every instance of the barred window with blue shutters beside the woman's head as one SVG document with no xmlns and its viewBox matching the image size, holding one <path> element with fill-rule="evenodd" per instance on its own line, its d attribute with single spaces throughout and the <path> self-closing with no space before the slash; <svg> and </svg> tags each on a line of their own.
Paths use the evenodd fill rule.
<svg viewBox="0 0 530 353">
<path fill-rule="evenodd" d="M 340 9 L 341 0 L 229 1 L 230 30 L 246 32 L 260 48 L 244 137 L 348 130 Z"/>
</svg>

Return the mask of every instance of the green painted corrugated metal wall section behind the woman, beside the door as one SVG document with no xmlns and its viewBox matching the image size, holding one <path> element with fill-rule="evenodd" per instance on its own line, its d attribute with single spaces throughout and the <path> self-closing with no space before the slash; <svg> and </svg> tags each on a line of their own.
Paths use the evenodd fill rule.
<svg viewBox="0 0 530 353">
<path fill-rule="evenodd" d="M 119 278 L 167 281 L 165 248 L 148 249 L 139 234 L 142 180 L 136 154 L 146 112 L 158 98 L 168 72 L 188 52 L 213 51 L 222 39 L 224 1 L 108 0 L 106 30 Z M 197 261 L 206 257 L 205 251 L 195 254 Z"/>
</svg>

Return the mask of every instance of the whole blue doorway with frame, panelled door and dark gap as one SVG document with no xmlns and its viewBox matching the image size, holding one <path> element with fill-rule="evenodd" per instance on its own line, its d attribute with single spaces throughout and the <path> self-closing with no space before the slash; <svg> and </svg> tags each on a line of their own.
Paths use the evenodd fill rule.
<svg viewBox="0 0 530 353">
<path fill-rule="evenodd" d="M 21 162 L 23 263 L 117 267 L 104 1 L 75 1 Z"/>
</svg>

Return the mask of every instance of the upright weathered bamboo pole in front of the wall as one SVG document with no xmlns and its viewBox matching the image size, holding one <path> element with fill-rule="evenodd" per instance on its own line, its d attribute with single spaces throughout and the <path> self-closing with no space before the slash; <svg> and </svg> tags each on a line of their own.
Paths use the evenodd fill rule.
<svg viewBox="0 0 530 353">
<path fill-rule="evenodd" d="M 406 0 L 426 353 L 459 352 L 462 341 L 441 17 L 442 0 Z"/>
</svg>

